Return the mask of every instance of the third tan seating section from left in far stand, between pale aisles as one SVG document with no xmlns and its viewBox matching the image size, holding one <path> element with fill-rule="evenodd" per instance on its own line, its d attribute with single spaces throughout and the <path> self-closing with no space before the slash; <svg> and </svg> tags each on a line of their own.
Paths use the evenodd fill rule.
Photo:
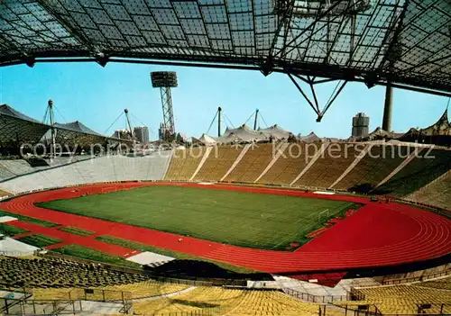
<svg viewBox="0 0 451 316">
<path fill-rule="evenodd" d="M 272 144 L 251 146 L 225 181 L 252 183 L 272 160 Z"/>
</svg>

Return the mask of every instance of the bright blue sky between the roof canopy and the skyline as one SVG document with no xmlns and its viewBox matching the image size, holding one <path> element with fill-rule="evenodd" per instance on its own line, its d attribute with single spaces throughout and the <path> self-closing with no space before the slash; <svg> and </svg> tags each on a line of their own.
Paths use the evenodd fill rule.
<svg viewBox="0 0 451 316">
<path fill-rule="evenodd" d="M 95 63 L 36 64 L 0 68 L 0 104 L 9 104 L 37 120 L 42 120 L 47 100 L 52 99 L 59 122 L 80 121 L 104 133 L 124 108 L 134 125 L 148 125 L 151 138 L 157 138 L 161 122 L 161 100 L 152 88 L 150 72 L 177 71 L 179 87 L 172 90 L 177 131 L 200 136 L 221 106 L 235 126 L 258 108 L 265 121 L 278 123 L 294 133 L 315 131 L 321 137 L 350 136 L 352 117 L 357 112 L 370 115 L 370 129 L 382 125 L 384 87 L 368 89 L 352 83 L 336 99 L 323 121 L 299 94 L 290 78 L 281 74 L 263 77 L 257 71 L 213 68 L 174 68 L 110 63 L 101 68 Z M 302 86 L 302 85 L 301 85 Z M 318 99 L 325 104 L 336 83 L 318 86 Z M 307 87 L 307 86 L 306 86 Z M 442 96 L 395 90 L 393 97 L 394 131 L 427 127 L 436 122 L 448 100 Z M 252 125 L 252 123 L 250 122 Z M 263 124 L 261 124 L 264 127 Z M 124 128 L 121 118 L 108 134 Z M 216 127 L 210 134 L 216 136 Z"/>
</svg>

